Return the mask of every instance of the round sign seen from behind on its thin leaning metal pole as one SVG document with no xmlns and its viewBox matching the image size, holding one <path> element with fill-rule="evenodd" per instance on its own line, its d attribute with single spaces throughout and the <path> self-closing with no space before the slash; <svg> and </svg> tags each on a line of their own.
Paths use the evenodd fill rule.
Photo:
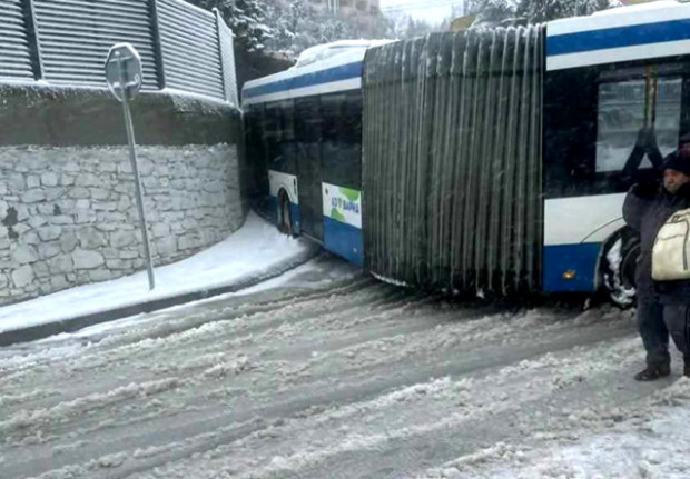
<svg viewBox="0 0 690 479">
<path fill-rule="evenodd" d="M 146 269 L 148 271 L 149 290 L 156 287 L 154 278 L 154 262 L 151 261 L 151 250 L 148 239 L 148 228 L 144 213 L 144 194 L 141 192 L 141 178 L 139 176 L 139 162 L 137 160 L 137 144 L 135 140 L 135 128 L 131 120 L 129 102 L 141 88 L 141 61 L 139 54 L 130 44 L 116 44 L 110 49 L 106 61 L 106 77 L 108 87 L 112 94 L 121 101 L 122 113 L 125 116 L 125 129 L 129 142 L 129 159 L 131 170 L 135 176 L 135 190 L 137 194 L 137 209 L 139 210 L 139 227 L 144 240 L 144 255 L 146 256 Z"/>
</svg>

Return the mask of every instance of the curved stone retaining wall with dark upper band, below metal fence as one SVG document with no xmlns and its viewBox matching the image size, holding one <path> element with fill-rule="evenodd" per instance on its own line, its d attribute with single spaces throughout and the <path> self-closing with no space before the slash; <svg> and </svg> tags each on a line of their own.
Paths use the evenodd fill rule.
<svg viewBox="0 0 690 479">
<path fill-rule="evenodd" d="M 0 305 L 145 269 L 119 104 L 103 92 L 31 89 L 21 109 L 19 90 L 0 89 Z M 12 110 L 21 110 L 14 123 Z M 239 117 L 223 104 L 160 93 L 138 100 L 137 111 L 145 209 L 160 266 L 241 226 Z"/>
</svg>

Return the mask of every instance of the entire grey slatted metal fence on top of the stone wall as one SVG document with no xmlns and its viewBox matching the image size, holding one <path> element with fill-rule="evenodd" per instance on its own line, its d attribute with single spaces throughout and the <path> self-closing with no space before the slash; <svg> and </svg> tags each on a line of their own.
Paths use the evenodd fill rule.
<svg viewBox="0 0 690 479">
<path fill-rule="evenodd" d="M 145 90 L 164 84 L 238 104 L 233 32 L 183 0 L 0 0 L 0 79 L 106 87 L 115 43 L 141 56 Z"/>
</svg>

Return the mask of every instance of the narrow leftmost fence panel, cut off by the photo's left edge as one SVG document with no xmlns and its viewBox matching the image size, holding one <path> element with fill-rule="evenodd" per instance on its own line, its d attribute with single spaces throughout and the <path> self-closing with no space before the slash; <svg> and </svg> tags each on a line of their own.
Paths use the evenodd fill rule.
<svg viewBox="0 0 690 479">
<path fill-rule="evenodd" d="M 33 79 L 22 0 L 0 0 L 0 78 Z"/>
</svg>

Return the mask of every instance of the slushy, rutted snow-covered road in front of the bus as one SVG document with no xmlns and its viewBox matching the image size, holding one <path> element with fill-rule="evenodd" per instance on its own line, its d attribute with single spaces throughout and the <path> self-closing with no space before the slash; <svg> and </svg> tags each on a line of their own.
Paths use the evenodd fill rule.
<svg viewBox="0 0 690 479">
<path fill-rule="evenodd" d="M 0 349 L 0 476 L 687 478 L 690 380 L 638 383 L 641 360 L 629 312 L 447 303 L 319 258 Z"/>
</svg>

